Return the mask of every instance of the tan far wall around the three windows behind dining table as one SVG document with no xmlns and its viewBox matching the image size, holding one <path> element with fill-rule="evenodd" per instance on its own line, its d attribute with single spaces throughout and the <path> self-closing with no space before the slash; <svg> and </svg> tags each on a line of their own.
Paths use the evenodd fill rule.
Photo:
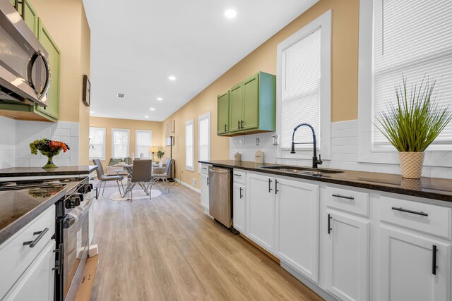
<svg viewBox="0 0 452 301">
<path fill-rule="evenodd" d="M 135 131 L 136 130 L 152 130 L 153 131 L 153 147 L 162 149 L 162 123 L 156 121 L 136 121 L 130 119 L 90 117 L 90 126 L 98 128 L 106 128 L 107 138 L 105 140 L 105 161 L 102 166 L 107 166 L 112 157 L 112 128 L 126 128 L 130 130 L 130 149 L 129 154 L 135 152 Z M 155 154 L 156 155 L 156 154 Z M 165 152 L 165 157 L 169 157 L 169 152 Z M 155 156 L 154 159 L 157 159 Z M 92 161 L 88 162 L 93 164 Z"/>
</svg>

